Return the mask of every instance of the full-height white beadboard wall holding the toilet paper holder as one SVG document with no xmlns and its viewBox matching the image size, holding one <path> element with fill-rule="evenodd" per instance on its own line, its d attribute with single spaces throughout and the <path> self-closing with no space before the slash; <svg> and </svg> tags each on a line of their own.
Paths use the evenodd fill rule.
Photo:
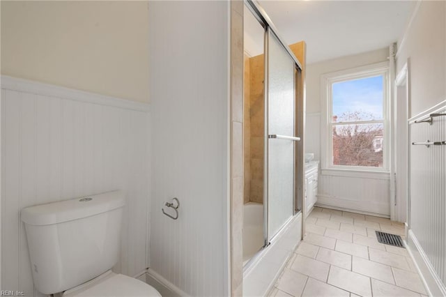
<svg viewBox="0 0 446 297">
<path fill-rule="evenodd" d="M 151 269 L 191 296 L 228 296 L 229 2 L 149 6 Z M 161 208 L 180 201 L 179 218 Z"/>
</svg>

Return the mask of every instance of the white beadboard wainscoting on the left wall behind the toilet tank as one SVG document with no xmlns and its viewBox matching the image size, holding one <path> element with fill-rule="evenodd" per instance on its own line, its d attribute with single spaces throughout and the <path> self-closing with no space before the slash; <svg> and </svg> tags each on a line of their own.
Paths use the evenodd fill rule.
<svg viewBox="0 0 446 297">
<path fill-rule="evenodd" d="M 121 260 L 148 267 L 149 109 L 48 84 L 1 77 L 1 289 L 33 287 L 20 210 L 121 189 L 126 193 Z"/>
</svg>

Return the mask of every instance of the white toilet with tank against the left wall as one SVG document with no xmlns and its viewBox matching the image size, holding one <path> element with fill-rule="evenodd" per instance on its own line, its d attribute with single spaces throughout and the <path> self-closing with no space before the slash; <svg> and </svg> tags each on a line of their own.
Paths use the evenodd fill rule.
<svg viewBox="0 0 446 297">
<path fill-rule="evenodd" d="M 161 296 L 114 273 L 121 245 L 121 190 L 22 209 L 33 281 L 55 296 Z"/>
</svg>

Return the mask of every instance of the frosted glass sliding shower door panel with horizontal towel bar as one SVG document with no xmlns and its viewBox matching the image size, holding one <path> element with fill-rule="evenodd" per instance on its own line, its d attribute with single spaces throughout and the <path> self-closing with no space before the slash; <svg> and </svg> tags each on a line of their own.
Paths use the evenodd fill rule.
<svg viewBox="0 0 446 297">
<path fill-rule="evenodd" d="M 266 240 L 294 214 L 295 62 L 275 34 L 267 32 Z M 267 243 L 268 244 L 268 243 Z"/>
</svg>

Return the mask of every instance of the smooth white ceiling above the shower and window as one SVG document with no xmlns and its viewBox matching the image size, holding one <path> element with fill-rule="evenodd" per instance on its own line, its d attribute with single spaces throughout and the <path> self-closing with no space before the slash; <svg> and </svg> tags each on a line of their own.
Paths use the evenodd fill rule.
<svg viewBox="0 0 446 297">
<path fill-rule="evenodd" d="M 389 46 L 403 34 L 415 1 L 265 1 L 286 43 L 307 43 L 307 63 Z M 245 50 L 263 53 L 263 31 L 245 9 Z"/>
</svg>

